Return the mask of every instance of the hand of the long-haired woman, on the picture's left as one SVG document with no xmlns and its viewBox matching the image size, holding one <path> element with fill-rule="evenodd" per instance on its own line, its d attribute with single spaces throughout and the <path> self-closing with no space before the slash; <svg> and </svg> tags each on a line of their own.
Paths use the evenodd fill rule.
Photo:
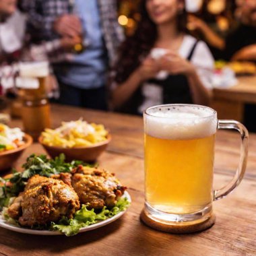
<svg viewBox="0 0 256 256">
<path fill-rule="evenodd" d="M 137 69 L 137 75 L 141 79 L 141 82 L 156 77 L 156 74 L 160 71 L 158 63 L 148 57 L 146 58 Z"/>
</svg>

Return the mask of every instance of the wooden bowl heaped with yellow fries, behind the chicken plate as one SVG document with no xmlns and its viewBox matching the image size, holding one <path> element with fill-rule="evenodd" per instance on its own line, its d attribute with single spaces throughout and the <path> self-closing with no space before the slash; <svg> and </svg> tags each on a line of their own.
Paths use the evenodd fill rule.
<svg viewBox="0 0 256 256">
<path fill-rule="evenodd" d="M 45 129 L 38 141 L 55 158 L 65 154 L 67 161 L 94 162 L 111 140 L 104 125 L 87 123 L 82 119 L 63 122 L 57 129 Z"/>
</svg>

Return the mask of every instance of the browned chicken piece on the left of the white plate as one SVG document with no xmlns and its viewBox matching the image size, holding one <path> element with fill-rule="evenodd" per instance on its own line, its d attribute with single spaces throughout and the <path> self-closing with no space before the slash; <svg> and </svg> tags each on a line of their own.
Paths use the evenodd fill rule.
<svg viewBox="0 0 256 256">
<path fill-rule="evenodd" d="M 8 214 L 22 226 L 31 227 L 56 222 L 62 216 L 73 218 L 79 207 L 78 196 L 72 187 L 58 179 L 34 175 L 24 192 L 9 206 Z"/>
</svg>

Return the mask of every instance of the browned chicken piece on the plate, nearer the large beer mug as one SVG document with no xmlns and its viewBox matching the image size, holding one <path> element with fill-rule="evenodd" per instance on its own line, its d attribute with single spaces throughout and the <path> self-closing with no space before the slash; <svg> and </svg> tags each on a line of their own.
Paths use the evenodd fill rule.
<svg viewBox="0 0 256 256">
<path fill-rule="evenodd" d="M 88 204 L 90 208 L 113 207 L 127 189 L 121 186 L 115 174 L 106 170 L 78 166 L 73 173 L 72 186 L 80 203 Z"/>
</svg>

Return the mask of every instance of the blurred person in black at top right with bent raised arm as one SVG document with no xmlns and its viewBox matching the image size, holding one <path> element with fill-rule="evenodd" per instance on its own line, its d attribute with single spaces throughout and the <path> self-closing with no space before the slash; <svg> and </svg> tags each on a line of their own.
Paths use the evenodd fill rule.
<svg viewBox="0 0 256 256">
<path fill-rule="evenodd" d="M 232 61 L 255 61 L 256 1 L 239 0 L 236 5 L 236 18 L 241 24 L 226 38 L 219 36 L 204 20 L 193 15 L 189 16 L 189 28 L 201 32 L 209 46 L 220 50 L 217 51 L 218 57 Z"/>
</svg>

